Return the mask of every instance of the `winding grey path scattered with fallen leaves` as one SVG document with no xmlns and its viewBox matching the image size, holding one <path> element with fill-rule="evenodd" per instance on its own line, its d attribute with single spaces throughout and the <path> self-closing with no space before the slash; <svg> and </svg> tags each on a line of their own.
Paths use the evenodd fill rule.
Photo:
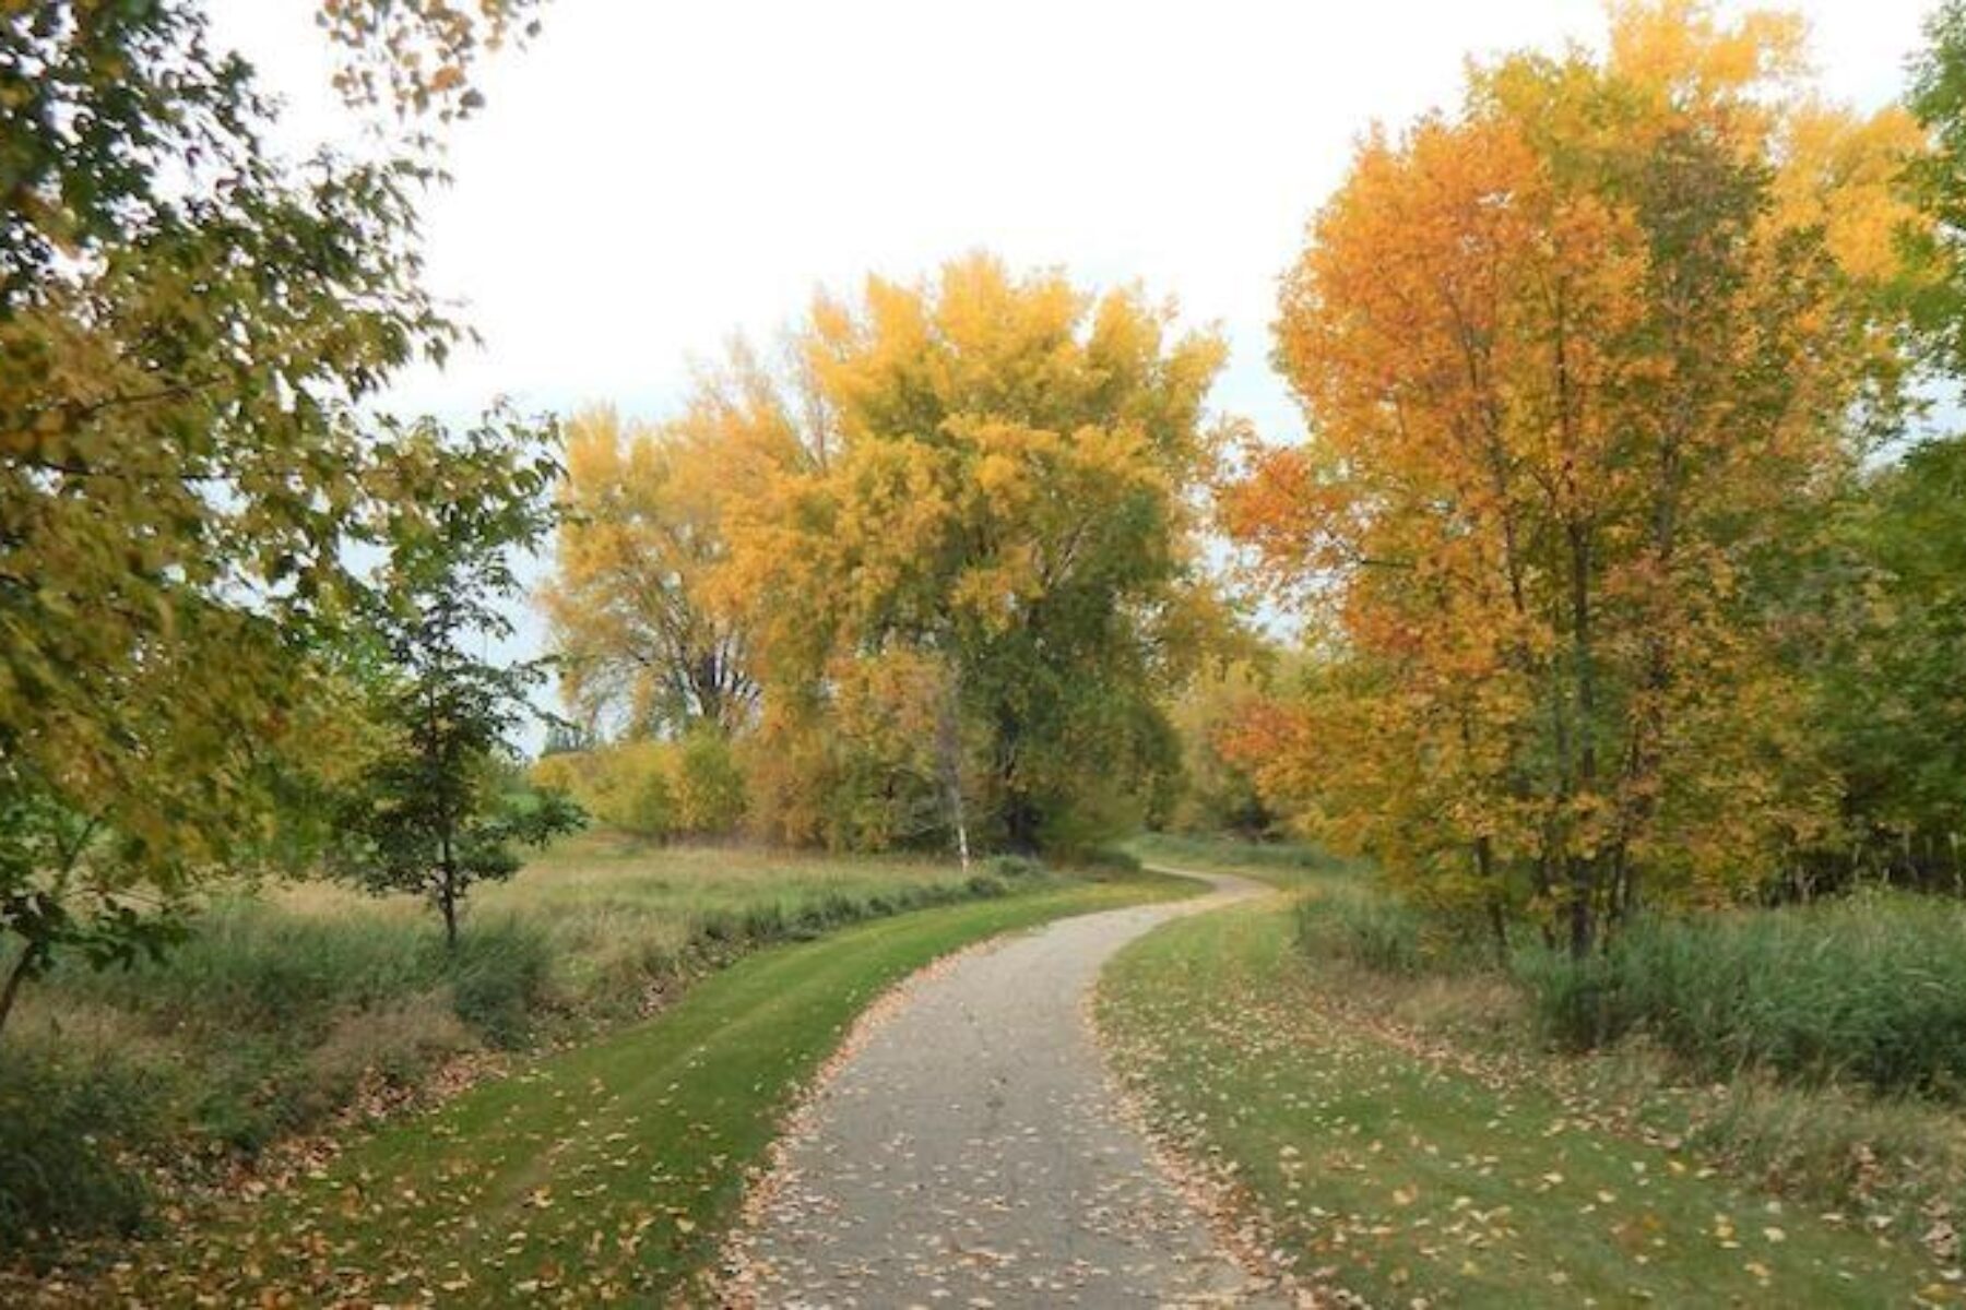
<svg viewBox="0 0 1966 1310">
<path fill-rule="evenodd" d="M 1134 937 L 1262 890 L 1209 882 L 916 978 L 794 1125 L 735 1286 L 812 1308 L 1286 1304 L 1119 1118 L 1083 1008 Z"/>
</svg>

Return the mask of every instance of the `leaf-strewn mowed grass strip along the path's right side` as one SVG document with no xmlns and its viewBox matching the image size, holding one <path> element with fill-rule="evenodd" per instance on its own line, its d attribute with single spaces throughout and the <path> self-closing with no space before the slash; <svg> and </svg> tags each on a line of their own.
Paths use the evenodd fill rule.
<svg viewBox="0 0 1966 1310">
<path fill-rule="evenodd" d="M 1907 1306 L 1915 1241 L 1587 1125 L 1319 1006 L 1288 898 L 1121 953 L 1097 1015 L 1156 1127 L 1233 1171 L 1300 1275 L 1372 1304 Z"/>
</svg>

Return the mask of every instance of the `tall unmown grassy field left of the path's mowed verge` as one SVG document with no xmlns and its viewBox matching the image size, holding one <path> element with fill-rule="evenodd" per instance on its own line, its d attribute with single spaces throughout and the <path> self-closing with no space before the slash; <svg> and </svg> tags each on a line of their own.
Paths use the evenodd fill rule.
<svg viewBox="0 0 1966 1310">
<path fill-rule="evenodd" d="M 655 1010 L 755 947 L 1042 882 L 594 833 L 482 888 L 456 955 L 407 898 L 234 890 L 161 964 L 26 992 L 0 1043 L 0 1265 L 140 1231 L 277 1139 Z"/>
</svg>

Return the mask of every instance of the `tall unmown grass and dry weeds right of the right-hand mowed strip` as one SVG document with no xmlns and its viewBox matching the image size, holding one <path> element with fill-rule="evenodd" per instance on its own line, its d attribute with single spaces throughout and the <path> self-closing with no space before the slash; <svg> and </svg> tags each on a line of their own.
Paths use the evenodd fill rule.
<svg viewBox="0 0 1966 1310">
<path fill-rule="evenodd" d="M 1966 907 L 1905 894 L 1634 927 L 1583 964 L 1378 894 L 1311 892 L 1333 1013 L 1683 1145 L 1777 1194 L 1954 1241 L 1966 1214 Z M 1931 1245 L 1931 1243 L 1927 1243 Z"/>
</svg>

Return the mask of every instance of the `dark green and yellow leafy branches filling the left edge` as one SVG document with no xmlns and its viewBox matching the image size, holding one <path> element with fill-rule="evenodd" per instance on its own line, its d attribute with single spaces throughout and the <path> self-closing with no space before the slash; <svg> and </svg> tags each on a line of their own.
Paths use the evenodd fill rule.
<svg viewBox="0 0 1966 1310">
<path fill-rule="evenodd" d="M 511 8 L 326 18 L 409 122 L 468 108 Z M 0 6 L 0 1019 L 263 854 L 303 742 L 340 766 L 313 652 L 358 550 L 495 491 L 374 409 L 458 338 L 419 281 L 431 143 L 293 163 L 269 124 L 189 0 Z"/>
</svg>

